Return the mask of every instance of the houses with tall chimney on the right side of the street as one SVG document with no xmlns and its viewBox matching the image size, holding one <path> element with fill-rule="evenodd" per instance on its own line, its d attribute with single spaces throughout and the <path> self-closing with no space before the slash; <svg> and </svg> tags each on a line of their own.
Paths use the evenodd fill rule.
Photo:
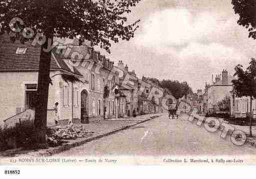
<svg viewBox="0 0 256 179">
<path fill-rule="evenodd" d="M 250 115 L 250 97 L 236 97 L 233 92 L 233 75 L 223 69 L 221 74 L 212 76 L 212 84 L 205 85 L 204 93 L 201 94 L 198 109 L 204 114 L 228 113 L 231 117 L 240 118 Z M 227 99 L 227 108 L 220 109 L 218 103 Z M 256 100 L 252 101 L 253 117 L 256 118 Z"/>
</svg>

